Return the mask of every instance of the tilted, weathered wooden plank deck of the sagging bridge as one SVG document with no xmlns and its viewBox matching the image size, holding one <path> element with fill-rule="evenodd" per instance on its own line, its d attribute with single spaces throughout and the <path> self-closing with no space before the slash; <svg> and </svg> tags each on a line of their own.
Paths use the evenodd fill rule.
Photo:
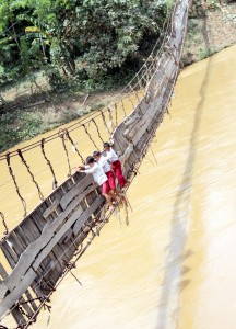
<svg viewBox="0 0 236 329">
<path fill-rule="evenodd" d="M 176 2 L 145 93 L 113 132 L 115 149 L 129 179 L 135 175 L 173 94 L 188 8 L 189 0 Z M 75 173 L 1 240 L 5 260 L 0 263 L 0 317 L 11 314 L 17 328 L 27 328 L 36 320 L 60 280 L 107 222 L 104 206 L 92 177 Z M 10 273 L 3 268 L 5 262 Z"/>
</svg>

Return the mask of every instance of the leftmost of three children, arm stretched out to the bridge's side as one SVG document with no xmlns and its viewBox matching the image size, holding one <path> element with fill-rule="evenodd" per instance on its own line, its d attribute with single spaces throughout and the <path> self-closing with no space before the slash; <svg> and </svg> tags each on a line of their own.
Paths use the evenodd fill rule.
<svg viewBox="0 0 236 329">
<path fill-rule="evenodd" d="M 103 168 L 99 167 L 98 163 L 94 160 L 93 157 L 86 158 L 86 166 L 79 166 L 79 171 L 85 172 L 85 173 L 92 173 L 94 181 L 102 186 L 102 194 L 106 197 L 106 201 L 109 204 L 109 209 L 114 209 L 114 205 L 111 203 L 111 196 L 110 194 L 110 186 L 108 183 L 108 179 L 103 170 Z"/>
</svg>

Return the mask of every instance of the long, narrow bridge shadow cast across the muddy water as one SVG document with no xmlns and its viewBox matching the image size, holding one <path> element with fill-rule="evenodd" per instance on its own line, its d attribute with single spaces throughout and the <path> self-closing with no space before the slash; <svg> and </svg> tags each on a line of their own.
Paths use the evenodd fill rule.
<svg viewBox="0 0 236 329">
<path fill-rule="evenodd" d="M 210 42 L 206 32 L 206 18 L 202 26 L 202 32 L 204 35 L 205 47 L 208 50 L 210 50 Z M 188 250 L 186 253 L 184 252 L 187 240 L 187 226 L 189 223 L 192 172 L 194 169 L 197 143 L 199 139 L 199 128 L 201 124 L 203 104 L 205 101 L 211 61 L 212 58 L 210 58 L 208 61 L 208 67 L 205 69 L 203 82 L 200 89 L 200 101 L 194 109 L 194 122 L 189 140 L 186 166 L 182 172 L 181 183 L 178 188 L 176 201 L 173 206 L 170 242 L 167 247 L 167 256 L 164 266 L 165 273 L 161 287 L 162 291 L 158 304 L 156 329 L 170 329 L 177 327 L 179 313 L 179 292 L 189 284 L 189 281 L 181 280 L 181 275 L 184 275 L 186 271 L 186 269 L 182 268 L 182 261 L 185 258 L 191 256 L 191 250 Z"/>
</svg>

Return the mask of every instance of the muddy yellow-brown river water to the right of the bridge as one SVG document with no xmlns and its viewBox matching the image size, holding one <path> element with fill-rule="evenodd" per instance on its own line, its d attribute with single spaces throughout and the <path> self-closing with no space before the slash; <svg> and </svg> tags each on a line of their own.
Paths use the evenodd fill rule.
<svg viewBox="0 0 236 329">
<path fill-rule="evenodd" d="M 82 286 L 68 274 L 34 329 L 236 328 L 235 54 L 181 72 L 129 189 L 130 226 L 104 227 L 74 270 Z"/>
</svg>

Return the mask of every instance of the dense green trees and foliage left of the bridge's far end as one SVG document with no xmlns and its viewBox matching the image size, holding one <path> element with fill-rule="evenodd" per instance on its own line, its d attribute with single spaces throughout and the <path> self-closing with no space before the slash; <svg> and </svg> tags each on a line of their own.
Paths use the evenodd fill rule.
<svg viewBox="0 0 236 329">
<path fill-rule="evenodd" d="M 55 87 L 88 83 L 139 66 L 167 10 L 166 0 L 0 0 L 0 83 L 37 70 Z"/>
</svg>

